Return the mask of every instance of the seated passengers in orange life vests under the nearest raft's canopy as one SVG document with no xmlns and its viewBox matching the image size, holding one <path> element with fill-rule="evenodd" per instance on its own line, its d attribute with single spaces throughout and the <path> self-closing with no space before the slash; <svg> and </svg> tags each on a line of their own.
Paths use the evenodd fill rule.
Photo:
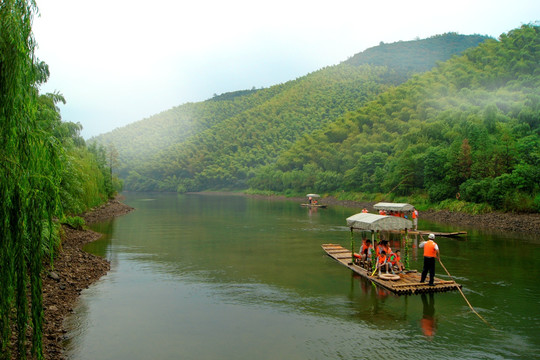
<svg viewBox="0 0 540 360">
<path fill-rule="evenodd" d="M 385 270 L 387 274 L 396 274 L 395 271 L 403 272 L 405 270 L 401 263 L 401 252 L 399 250 L 393 252 L 388 245 L 388 240 L 381 240 L 374 247 L 371 240 L 363 239 L 360 254 L 354 254 L 355 263 L 371 271 L 373 269 L 373 252 L 375 252 L 375 266 L 379 274 L 382 270 Z"/>
</svg>

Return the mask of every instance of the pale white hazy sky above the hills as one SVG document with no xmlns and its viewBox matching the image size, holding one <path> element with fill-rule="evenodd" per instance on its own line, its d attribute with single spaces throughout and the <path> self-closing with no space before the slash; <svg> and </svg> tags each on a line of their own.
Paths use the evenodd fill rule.
<svg viewBox="0 0 540 360">
<path fill-rule="evenodd" d="M 538 0 L 37 0 L 36 51 L 85 138 L 213 94 L 269 87 L 366 48 L 445 32 L 497 38 Z"/>
</svg>

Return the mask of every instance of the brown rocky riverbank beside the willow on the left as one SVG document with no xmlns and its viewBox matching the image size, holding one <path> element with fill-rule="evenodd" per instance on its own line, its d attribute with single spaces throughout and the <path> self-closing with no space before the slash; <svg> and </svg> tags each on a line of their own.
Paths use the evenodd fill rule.
<svg viewBox="0 0 540 360">
<path fill-rule="evenodd" d="M 133 210 L 119 200 L 121 199 L 111 200 L 83 215 L 85 223 L 91 225 Z M 85 244 L 100 237 L 101 234 L 92 230 L 76 230 L 63 226 L 62 248 L 54 260 L 54 269 L 47 266 L 47 271 L 42 276 L 45 359 L 65 359 L 63 343 L 67 331 L 64 328 L 64 319 L 73 312 L 81 291 L 110 270 L 107 260 L 82 250 Z"/>
</svg>

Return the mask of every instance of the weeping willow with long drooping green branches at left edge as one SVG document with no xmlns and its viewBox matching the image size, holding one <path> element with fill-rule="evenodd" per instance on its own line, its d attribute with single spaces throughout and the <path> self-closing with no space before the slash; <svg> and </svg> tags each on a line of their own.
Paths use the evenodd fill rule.
<svg viewBox="0 0 540 360">
<path fill-rule="evenodd" d="M 0 1 L 0 341 L 1 358 L 43 358 L 40 274 L 44 239 L 58 204 L 58 145 L 36 122 L 38 86 L 48 76 L 35 55 L 33 0 Z M 52 248 L 52 247 L 51 247 Z M 31 339 L 26 333 L 30 327 Z M 14 332 L 14 334 L 12 334 Z"/>
</svg>

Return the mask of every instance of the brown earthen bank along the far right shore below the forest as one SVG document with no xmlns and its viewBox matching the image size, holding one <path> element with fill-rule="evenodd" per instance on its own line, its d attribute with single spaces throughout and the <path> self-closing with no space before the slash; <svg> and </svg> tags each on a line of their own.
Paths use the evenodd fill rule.
<svg viewBox="0 0 540 360">
<path fill-rule="evenodd" d="M 285 196 L 262 196 L 248 195 L 254 198 L 264 198 L 271 200 L 289 200 L 298 201 L 298 203 L 306 202 L 305 198 L 288 198 Z M 367 208 L 370 212 L 375 212 L 373 209 L 374 202 L 360 202 L 337 200 L 333 197 L 327 197 L 321 200 L 321 203 L 327 205 L 340 205 L 351 208 L 357 208 L 358 211 L 362 208 Z M 493 212 L 489 214 L 469 215 L 464 213 L 456 213 L 450 211 L 422 211 L 420 218 L 452 225 L 470 226 L 479 229 L 491 229 L 510 232 L 524 232 L 529 234 L 540 233 L 540 214 L 514 214 Z"/>
</svg>

